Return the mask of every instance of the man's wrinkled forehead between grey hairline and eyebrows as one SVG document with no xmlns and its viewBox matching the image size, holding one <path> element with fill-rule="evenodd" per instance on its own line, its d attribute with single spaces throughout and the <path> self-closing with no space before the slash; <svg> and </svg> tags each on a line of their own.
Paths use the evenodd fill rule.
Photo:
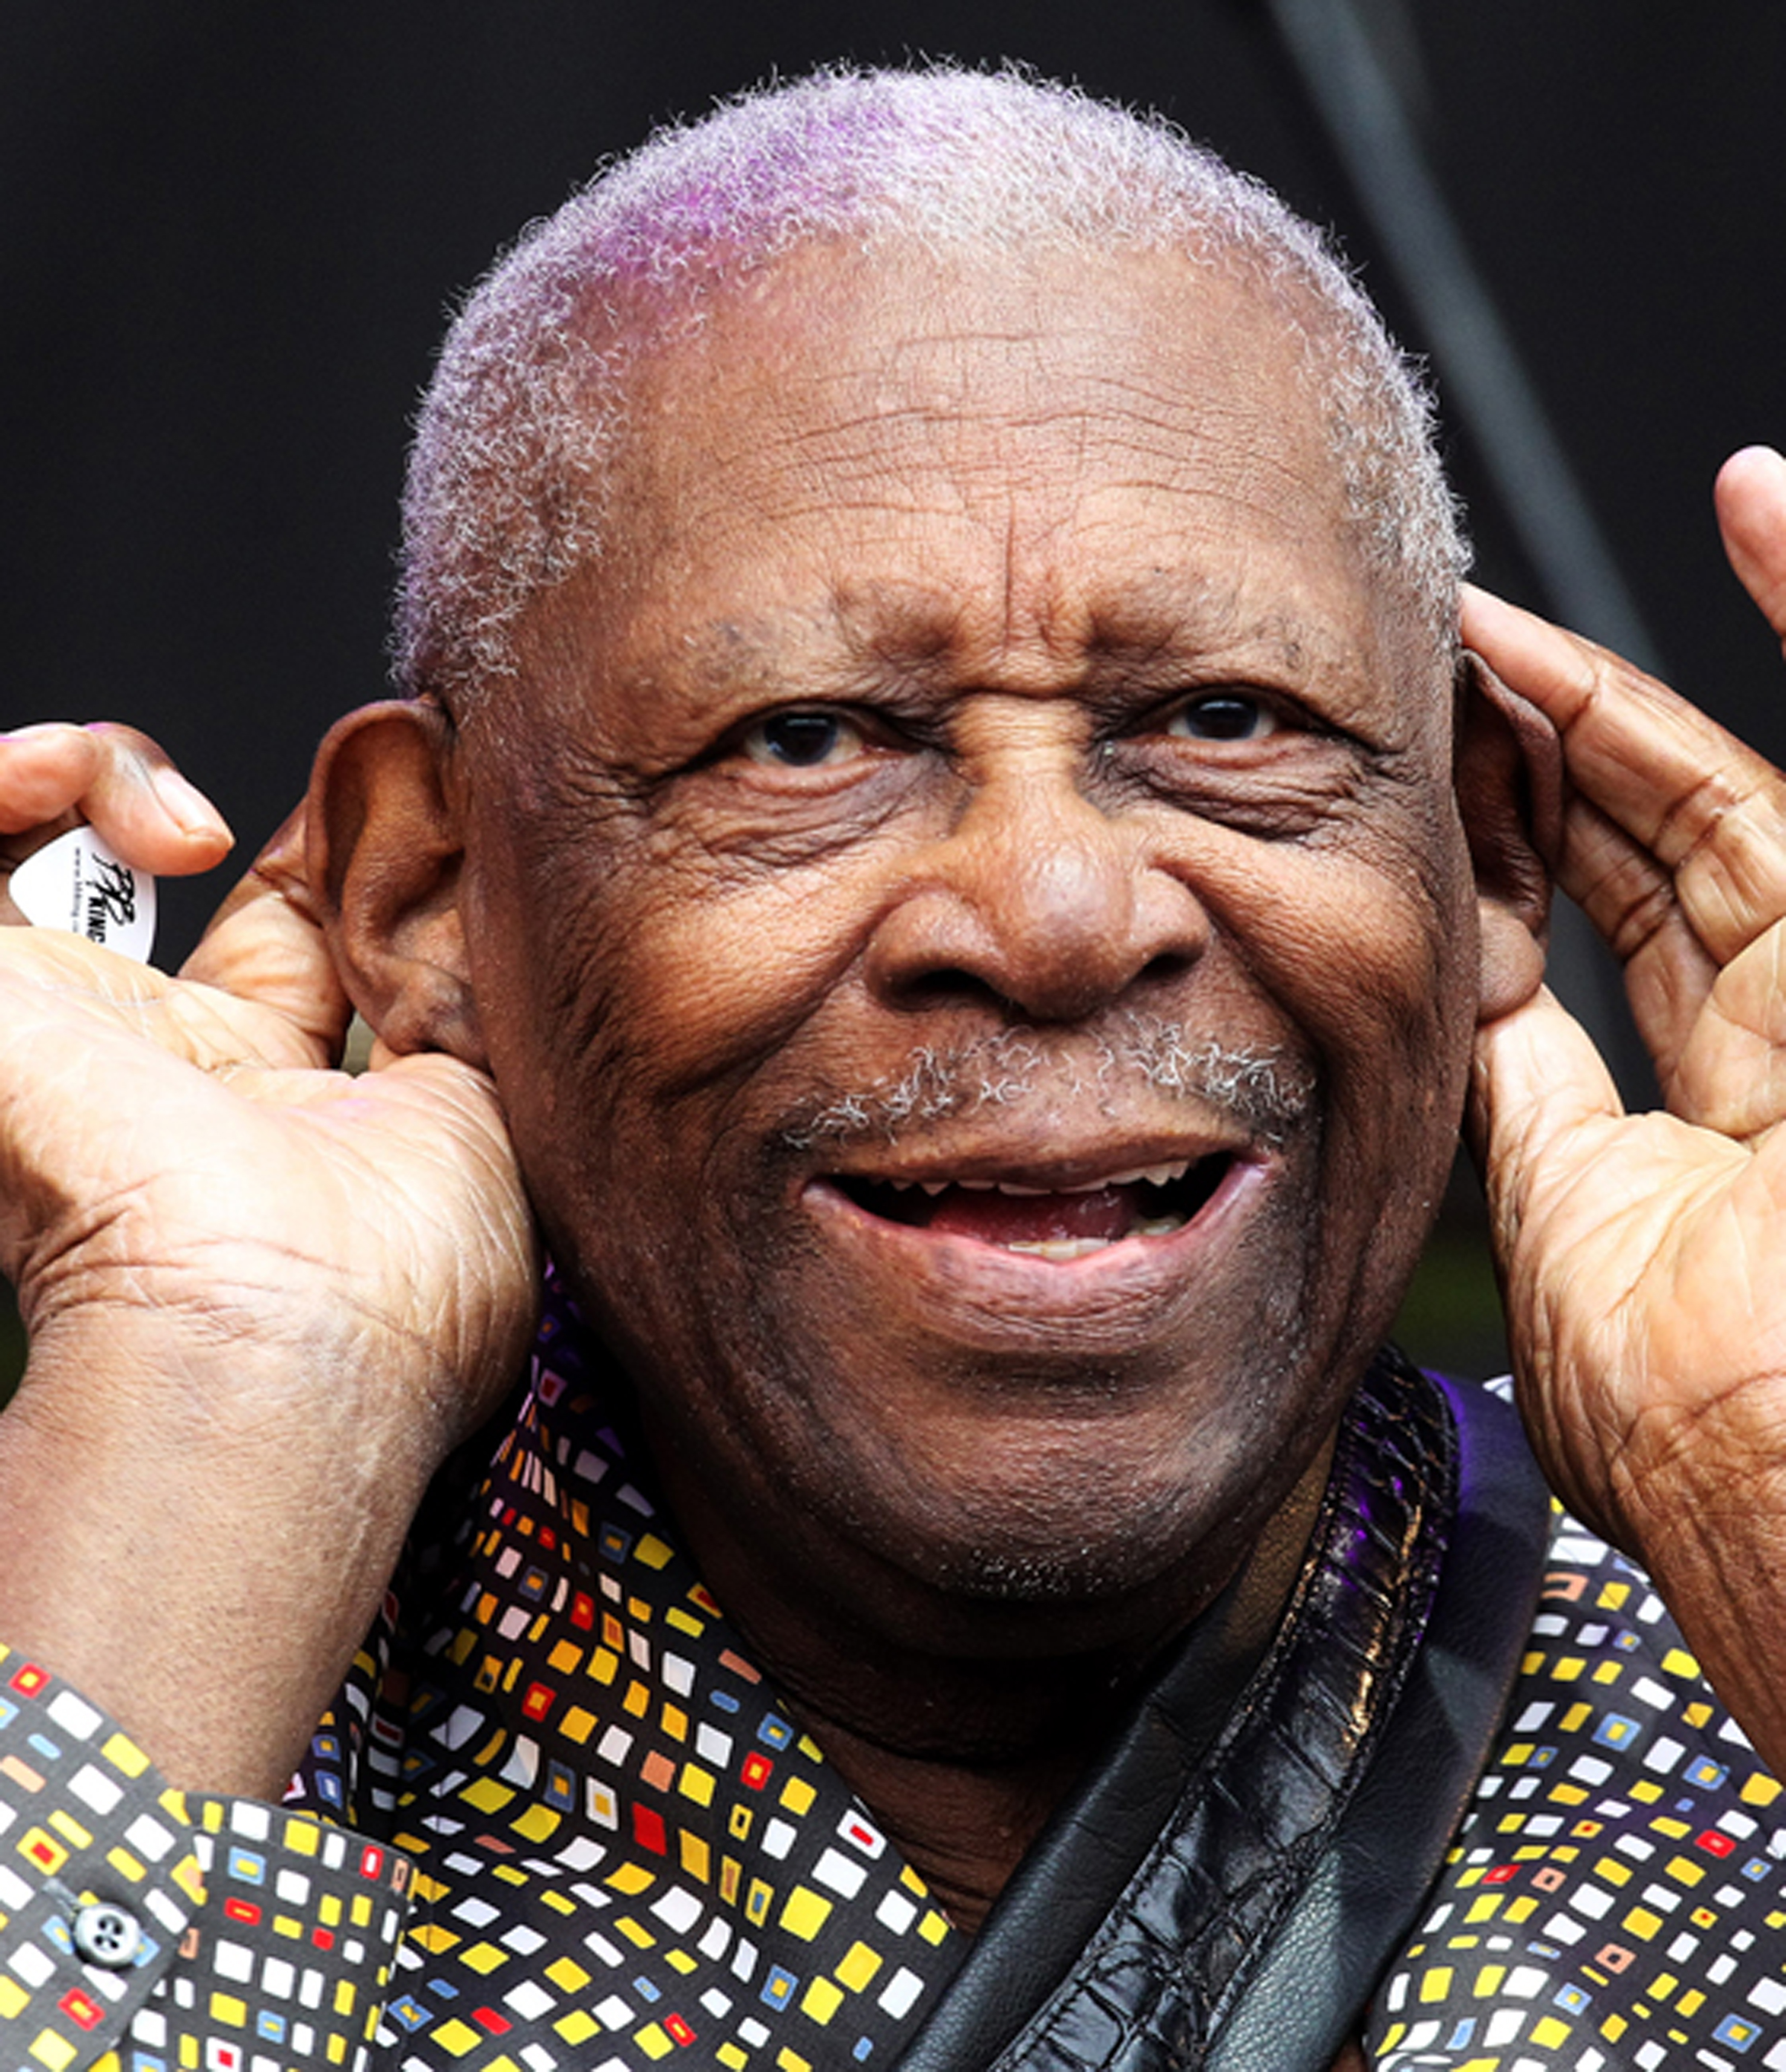
<svg viewBox="0 0 1786 2072">
<path fill-rule="evenodd" d="M 796 508 L 947 518 L 949 474 L 1040 526 L 1200 485 L 1245 526 L 1293 493 L 1347 547 L 1301 325 L 1181 253 L 804 249 L 653 323 L 624 390 L 609 537 L 653 553 L 661 524 L 688 547 L 754 522 L 771 479 Z"/>
</svg>

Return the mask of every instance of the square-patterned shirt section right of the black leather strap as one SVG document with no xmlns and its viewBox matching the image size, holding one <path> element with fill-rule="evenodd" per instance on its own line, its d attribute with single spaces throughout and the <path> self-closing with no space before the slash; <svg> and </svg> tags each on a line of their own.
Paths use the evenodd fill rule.
<svg viewBox="0 0 1786 2072">
<path fill-rule="evenodd" d="M 1508 1724 L 1374 2012 L 1378 2064 L 1782 2072 L 1782 1815 L 1647 1577 L 1560 1519 Z"/>
</svg>

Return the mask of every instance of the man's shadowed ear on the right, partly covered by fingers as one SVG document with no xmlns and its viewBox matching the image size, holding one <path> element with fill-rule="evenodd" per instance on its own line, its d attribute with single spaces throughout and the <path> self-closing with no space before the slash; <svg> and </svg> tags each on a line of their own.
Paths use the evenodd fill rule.
<svg viewBox="0 0 1786 2072">
<path fill-rule="evenodd" d="M 1457 804 L 1481 926 L 1477 1021 L 1494 1021 L 1544 980 L 1550 872 L 1562 845 L 1562 742 L 1535 704 L 1467 649 L 1457 707 Z"/>
</svg>

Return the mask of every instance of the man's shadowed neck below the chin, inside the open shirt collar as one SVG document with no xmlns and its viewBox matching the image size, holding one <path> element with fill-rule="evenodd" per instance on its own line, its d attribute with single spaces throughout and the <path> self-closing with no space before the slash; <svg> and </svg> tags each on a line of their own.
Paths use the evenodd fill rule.
<svg viewBox="0 0 1786 2072">
<path fill-rule="evenodd" d="M 808 1593 L 765 1587 L 760 1562 L 713 1529 L 713 1508 L 684 1500 L 673 1471 L 667 1481 L 702 1579 L 769 1678 L 943 1912 L 974 1933 L 1150 1666 L 1191 1631 L 1214 1732 L 1295 1587 L 1330 1459 L 1332 1442 L 1239 1566 L 1212 1577 L 1189 1610 L 1131 1627 L 1121 1645 L 1059 1653 L 939 1656 L 876 1643 L 847 1612 L 814 1616 Z"/>
</svg>

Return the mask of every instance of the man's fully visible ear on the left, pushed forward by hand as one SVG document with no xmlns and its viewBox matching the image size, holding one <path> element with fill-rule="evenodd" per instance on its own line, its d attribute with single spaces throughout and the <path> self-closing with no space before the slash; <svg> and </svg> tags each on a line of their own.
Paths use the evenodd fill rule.
<svg viewBox="0 0 1786 2072">
<path fill-rule="evenodd" d="M 348 997 L 383 1042 L 485 1065 L 458 903 L 452 738 L 427 698 L 340 719 L 311 771 L 307 864 Z"/>
</svg>

